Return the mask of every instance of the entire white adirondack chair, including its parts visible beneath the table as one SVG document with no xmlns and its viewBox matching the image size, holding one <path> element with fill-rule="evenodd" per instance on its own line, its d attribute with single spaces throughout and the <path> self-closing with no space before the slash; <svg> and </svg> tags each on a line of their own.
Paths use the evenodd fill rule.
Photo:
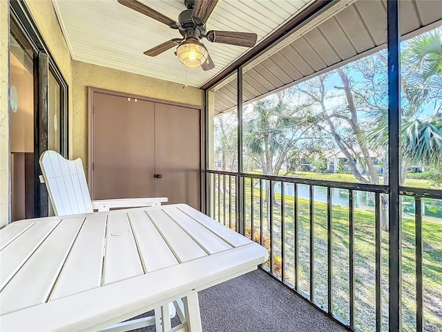
<svg viewBox="0 0 442 332">
<path fill-rule="evenodd" d="M 112 208 L 140 208 L 167 202 L 166 197 L 91 201 L 80 158 L 67 160 L 56 151 L 48 150 L 41 154 L 39 163 L 43 173 L 43 176 L 40 176 L 40 181 L 46 184 L 50 203 L 57 216 L 88 213 L 94 212 L 94 210 L 108 211 Z M 154 316 L 115 324 L 102 331 L 129 331 L 154 324 L 157 332 L 165 331 L 170 329 L 170 318 L 174 317 L 176 313 L 184 320 L 181 299 L 174 301 L 169 307 L 156 308 Z M 166 317 L 170 318 L 166 319 Z"/>
</svg>

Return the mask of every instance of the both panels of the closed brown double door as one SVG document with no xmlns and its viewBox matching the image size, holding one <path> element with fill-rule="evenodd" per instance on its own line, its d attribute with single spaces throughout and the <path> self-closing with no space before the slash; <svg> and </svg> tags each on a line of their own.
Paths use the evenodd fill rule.
<svg viewBox="0 0 442 332">
<path fill-rule="evenodd" d="M 164 196 L 200 210 L 200 109 L 94 91 L 91 129 L 93 199 Z"/>
</svg>

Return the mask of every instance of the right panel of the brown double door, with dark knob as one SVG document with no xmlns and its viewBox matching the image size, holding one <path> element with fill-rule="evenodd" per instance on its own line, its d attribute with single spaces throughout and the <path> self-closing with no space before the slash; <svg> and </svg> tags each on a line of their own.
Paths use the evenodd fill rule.
<svg viewBox="0 0 442 332">
<path fill-rule="evenodd" d="M 200 110 L 155 103 L 155 196 L 200 210 Z"/>
</svg>

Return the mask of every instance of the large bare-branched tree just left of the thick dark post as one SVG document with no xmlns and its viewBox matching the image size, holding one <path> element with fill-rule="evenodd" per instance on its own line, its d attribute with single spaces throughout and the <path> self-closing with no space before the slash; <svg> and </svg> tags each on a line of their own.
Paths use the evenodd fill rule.
<svg viewBox="0 0 442 332">
<path fill-rule="evenodd" d="M 386 73 L 383 62 L 369 56 L 296 86 L 316 105 L 316 131 L 333 138 L 357 181 L 375 185 L 381 183 L 382 176 L 375 160 L 386 150 L 376 149 L 365 133 L 371 125 L 370 116 L 387 110 L 382 73 Z M 381 195 L 384 228 L 387 205 L 387 196 Z"/>
</svg>

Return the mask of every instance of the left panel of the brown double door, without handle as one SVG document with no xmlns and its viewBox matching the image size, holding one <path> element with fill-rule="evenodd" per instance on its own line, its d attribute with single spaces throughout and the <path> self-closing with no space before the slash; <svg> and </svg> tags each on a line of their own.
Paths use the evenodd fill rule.
<svg viewBox="0 0 442 332">
<path fill-rule="evenodd" d="M 154 104 L 94 93 L 93 199 L 154 196 Z"/>
</svg>

